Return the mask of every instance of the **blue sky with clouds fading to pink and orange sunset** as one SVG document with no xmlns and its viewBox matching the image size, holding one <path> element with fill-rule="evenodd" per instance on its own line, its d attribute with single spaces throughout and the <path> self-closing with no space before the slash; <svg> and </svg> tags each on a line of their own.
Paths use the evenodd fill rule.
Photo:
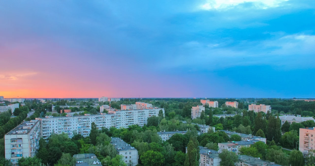
<svg viewBox="0 0 315 166">
<path fill-rule="evenodd" d="M 5 98 L 314 98 L 314 85 L 314 0 L 0 1 Z"/>
</svg>

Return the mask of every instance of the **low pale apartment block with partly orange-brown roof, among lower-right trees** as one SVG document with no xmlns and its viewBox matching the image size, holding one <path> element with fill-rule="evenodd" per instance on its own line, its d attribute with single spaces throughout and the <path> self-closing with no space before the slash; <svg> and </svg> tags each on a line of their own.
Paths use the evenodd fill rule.
<svg viewBox="0 0 315 166">
<path fill-rule="evenodd" d="M 251 145 L 255 144 L 259 140 L 245 140 L 245 141 L 228 141 L 224 143 L 218 143 L 219 151 L 223 151 L 223 149 L 228 150 L 229 152 L 235 152 L 239 154 L 239 149 L 241 147 L 250 147 Z"/>
</svg>

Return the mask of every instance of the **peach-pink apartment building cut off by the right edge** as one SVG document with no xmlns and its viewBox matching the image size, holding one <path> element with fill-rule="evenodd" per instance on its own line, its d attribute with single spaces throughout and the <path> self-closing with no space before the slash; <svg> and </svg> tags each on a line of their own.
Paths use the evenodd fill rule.
<svg viewBox="0 0 315 166">
<path fill-rule="evenodd" d="M 300 128 L 299 151 L 306 157 L 308 151 L 315 149 L 315 129 L 314 127 Z"/>
</svg>

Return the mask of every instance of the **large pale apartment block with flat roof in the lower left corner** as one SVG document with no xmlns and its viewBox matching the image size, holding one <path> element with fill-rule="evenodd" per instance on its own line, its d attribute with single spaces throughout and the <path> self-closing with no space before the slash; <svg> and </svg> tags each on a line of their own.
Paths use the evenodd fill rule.
<svg viewBox="0 0 315 166">
<path fill-rule="evenodd" d="M 4 135 L 5 158 L 17 166 L 22 157 L 34 157 L 39 148 L 40 121 L 25 121 Z"/>
</svg>

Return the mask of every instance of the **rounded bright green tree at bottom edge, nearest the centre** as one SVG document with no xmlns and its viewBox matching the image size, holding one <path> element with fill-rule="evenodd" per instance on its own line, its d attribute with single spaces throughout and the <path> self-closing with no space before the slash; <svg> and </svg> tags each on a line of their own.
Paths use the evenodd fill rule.
<svg viewBox="0 0 315 166">
<path fill-rule="evenodd" d="M 147 151 L 140 157 L 143 165 L 155 166 L 162 165 L 164 161 L 164 157 L 160 152 Z"/>
</svg>

